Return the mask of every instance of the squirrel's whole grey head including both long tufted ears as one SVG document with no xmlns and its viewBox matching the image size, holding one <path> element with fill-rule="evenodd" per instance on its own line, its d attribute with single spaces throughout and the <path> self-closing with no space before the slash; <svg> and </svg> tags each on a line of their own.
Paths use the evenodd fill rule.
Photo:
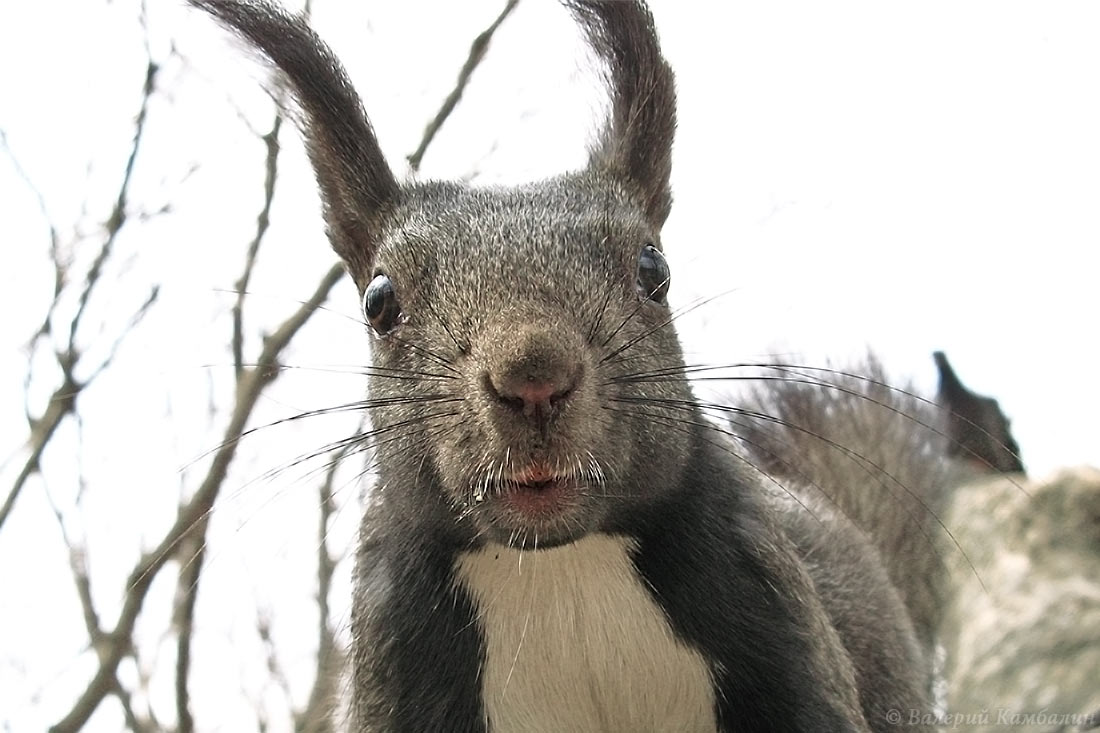
<svg viewBox="0 0 1100 733">
<path fill-rule="evenodd" d="M 437 517 L 460 541 L 542 547 L 659 503 L 700 418 L 660 240 L 675 90 L 645 4 L 565 3 L 610 96 L 587 166 L 473 187 L 398 183 L 340 63 L 300 18 L 190 1 L 288 92 L 374 333 L 372 448 L 395 515 Z"/>
</svg>

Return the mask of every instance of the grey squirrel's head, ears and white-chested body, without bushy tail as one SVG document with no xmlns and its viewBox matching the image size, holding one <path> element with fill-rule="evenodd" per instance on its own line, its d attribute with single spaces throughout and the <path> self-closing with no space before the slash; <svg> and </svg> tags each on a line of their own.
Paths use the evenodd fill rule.
<svg viewBox="0 0 1100 733">
<path fill-rule="evenodd" d="M 644 3 L 564 3 L 608 70 L 588 165 L 472 187 L 398 183 L 301 19 L 189 1 L 285 85 L 374 335 L 388 435 L 354 576 L 352 730 L 933 727 L 931 612 L 894 572 L 927 537 L 872 541 L 843 496 L 769 480 L 693 396 L 660 239 L 675 90 Z M 833 491 L 901 512 L 878 483 Z"/>
</svg>

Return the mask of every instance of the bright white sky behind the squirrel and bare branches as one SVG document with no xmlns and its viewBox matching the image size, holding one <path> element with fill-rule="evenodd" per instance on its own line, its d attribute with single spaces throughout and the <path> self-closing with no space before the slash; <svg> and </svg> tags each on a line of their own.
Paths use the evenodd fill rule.
<svg viewBox="0 0 1100 733">
<path fill-rule="evenodd" d="M 416 147 L 470 41 L 503 0 L 315 4 L 315 24 L 345 59 L 384 149 L 404 171 L 403 156 Z M 870 346 L 899 380 L 931 390 L 931 352 L 943 349 L 968 385 L 1001 401 L 1034 473 L 1100 464 L 1100 4 L 652 4 L 681 98 L 676 204 L 664 232 L 671 297 L 684 304 L 735 288 L 682 321 L 689 358 L 746 361 L 779 351 L 818 363 Z M 96 221 L 117 185 L 143 72 L 134 6 L 16 3 L 0 25 L 0 128 L 67 241 L 82 203 L 91 210 L 87 221 Z M 163 524 L 172 510 L 164 486 L 174 497 L 190 478 L 179 467 L 217 441 L 221 428 L 207 427 L 207 400 L 228 390 L 230 304 L 218 289 L 239 274 L 261 200 L 263 157 L 227 100 L 257 130 L 271 124 L 254 66 L 241 64 L 179 3 L 150 6 L 154 53 L 163 57 L 173 42 L 187 63 L 162 73 L 148 154 L 136 174 L 135 206 L 172 201 L 174 211 L 120 240 L 125 266 L 112 272 L 117 287 L 95 309 L 110 333 L 150 283 L 164 282 L 158 310 L 128 342 L 119 374 L 85 395 L 86 409 L 99 417 L 85 426 L 84 470 L 94 485 L 114 492 L 86 510 L 117 529 L 123 547 L 105 546 L 103 556 L 155 536 L 157 517 Z M 475 180 L 495 182 L 580 165 L 600 105 L 566 14 L 546 0 L 522 0 L 429 152 L 425 173 L 476 171 Z M 276 322 L 331 262 L 304 156 L 290 134 L 283 140 L 288 150 L 274 228 L 253 287 L 254 302 L 270 304 L 270 311 L 254 315 L 253 328 Z M 9 344 L 0 352 L 2 461 L 18 453 L 25 435 L 21 349 L 51 288 L 42 217 L 6 157 L 0 212 L 9 256 L 0 271 L 0 338 Z M 74 250 L 78 262 L 90 254 Z M 351 289 L 339 291 L 332 307 L 354 314 Z M 307 339 L 295 363 L 363 360 L 361 329 L 339 315 Z M 52 389 L 42 380 L 35 394 L 41 400 Z M 306 374 L 268 407 L 277 416 L 288 407 L 338 403 L 358 389 L 353 378 Z M 328 435 L 346 428 L 334 425 Z M 297 455 L 324 438 L 299 433 L 289 439 L 299 441 L 290 448 Z M 75 436 L 65 440 L 76 445 Z M 264 545 L 275 512 L 248 482 L 286 460 L 278 440 L 265 444 L 254 471 L 240 479 L 232 522 L 245 529 L 235 529 L 234 549 L 219 555 L 232 558 L 223 566 L 240 566 L 254 579 L 245 590 L 265 589 L 272 604 L 292 602 L 267 589 L 285 570 L 250 560 L 241 548 L 260 545 L 255 557 L 289 558 L 302 547 L 308 555 L 311 536 L 304 535 L 304 545 Z M 11 466 L 0 463 L 0 492 L 14 475 Z M 66 479 L 59 472 L 55 490 L 64 493 Z M 312 497 L 286 499 L 292 492 L 285 489 L 275 494 L 292 506 Z M 35 524 L 50 517 L 41 501 L 25 499 L 26 528 L 6 528 L 0 558 L 56 535 L 50 524 Z M 287 511 L 293 516 L 295 510 Z M 144 518 L 130 522 L 134 516 Z M 56 554 L 43 558 L 57 560 Z M 37 572 L 24 567 L 21 575 L 7 562 L 0 559 L 0 580 L 25 582 Z M 64 573 L 64 567 L 62 559 L 54 569 Z M 102 586 L 118 586 L 111 582 Z M 38 610 L 16 608 L 6 595 L 0 615 L 23 623 L 38 617 Z M 33 633 L 6 638 L 12 627 L 0 623 L 7 630 L 0 648 L 33 656 L 42 639 Z M 77 644 L 79 626 L 70 631 Z M 67 648 L 64 639 L 57 644 Z M 75 674 L 58 671 L 66 659 L 59 654 L 43 664 L 58 678 Z M 0 666 L 0 681 L 11 683 L 12 669 Z M 48 688 L 42 680 L 51 672 L 35 669 L 31 676 Z M 41 714 L 21 698 L 19 714 L 29 718 L 18 720 L 38 721 L 33 710 Z"/>
</svg>

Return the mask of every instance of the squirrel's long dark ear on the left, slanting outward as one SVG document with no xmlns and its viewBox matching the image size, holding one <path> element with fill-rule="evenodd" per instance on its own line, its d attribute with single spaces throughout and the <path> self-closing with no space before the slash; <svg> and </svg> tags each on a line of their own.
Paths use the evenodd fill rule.
<svg viewBox="0 0 1100 733">
<path fill-rule="evenodd" d="M 332 248 L 352 277 L 369 277 L 380 221 L 397 204 L 400 186 L 340 62 L 301 18 L 267 3 L 188 2 L 246 41 L 282 75 L 299 112 Z"/>
</svg>

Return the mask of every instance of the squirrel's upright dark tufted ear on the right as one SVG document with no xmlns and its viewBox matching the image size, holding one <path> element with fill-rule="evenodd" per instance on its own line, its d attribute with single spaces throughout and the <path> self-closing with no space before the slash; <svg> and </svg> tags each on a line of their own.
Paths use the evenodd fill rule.
<svg viewBox="0 0 1100 733">
<path fill-rule="evenodd" d="M 660 227 L 672 207 L 676 91 L 653 17 L 640 0 L 566 0 L 566 6 L 608 69 L 610 116 L 591 165 L 623 178 Z"/>
</svg>

